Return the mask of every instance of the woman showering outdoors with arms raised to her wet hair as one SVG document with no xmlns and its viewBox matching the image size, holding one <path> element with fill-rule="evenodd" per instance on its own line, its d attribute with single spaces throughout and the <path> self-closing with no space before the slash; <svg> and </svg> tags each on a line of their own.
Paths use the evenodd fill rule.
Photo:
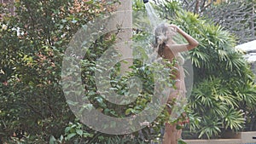
<svg viewBox="0 0 256 144">
<path fill-rule="evenodd" d="M 188 43 L 177 44 L 173 41 L 172 37 L 175 33 L 181 34 Z M 183 72 L 183 57 L 180 52 L 188 51 L 194 49 L 198 46 L 198 42 L 195 38 L 189 36 L 188 33 L 183 32 L 178 26 L 169 24 L 160 24 L 155 29 L 155 50 L 160 57 L 167 60 L 177 60 L 175 67 L 177 71 L 172 72 L 175 76 L 175 89 L 171 89 L 171 93 L 168 97 L 168 102 L 172 103 L 174 99 L 180 99 L 185 97 L 186 88 L 184 82 L 184 72 Z M 167 107 L 169 114 L 172 116 L 172 108 Z M 181 138 L 182 130 L 176 129 L 177 124 L 168 124 L 166 122 L 166 129 L 163 144 L 177 144 L 177 140 Z"/>
</svg>

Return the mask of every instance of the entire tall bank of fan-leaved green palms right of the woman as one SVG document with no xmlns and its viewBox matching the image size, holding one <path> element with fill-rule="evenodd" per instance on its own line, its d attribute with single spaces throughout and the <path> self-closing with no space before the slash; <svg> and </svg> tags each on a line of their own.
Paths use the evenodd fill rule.
<svg viewBox="0 0 256 144">
<path fill-rule="evenodd" d="M 172 8 L 167 6 L 170 3 L 165 9 Z M 164 15 L 165 9 L 160 9 Z M 195 76 L 187 129 L 203 138 L 220 137 L 226 130 L 247 130 L 249 123 L 253 125 L 255 106 L 248 101 L 255 103 L 255 84 L 243 54 L 234 49 L 236 37 L 197 14 L 179 10 L 165 16 L 200 43 L 189 51 Z"/>
</svg>

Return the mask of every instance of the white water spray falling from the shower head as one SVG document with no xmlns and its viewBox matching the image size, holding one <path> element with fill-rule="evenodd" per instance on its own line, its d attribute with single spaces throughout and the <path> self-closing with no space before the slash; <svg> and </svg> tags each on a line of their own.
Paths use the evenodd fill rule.
<svg viewBox="0 0 256 144">
<path fill-rule="evenodd" d="M 156 26 L 162 23 L 163 20 L 160 20 L 159 16 L 155 13 L 154 8 L 150 3 L 145 3 L 145 8 L 148 14 L 150 25 L 154 29 Z"/>
</svg>

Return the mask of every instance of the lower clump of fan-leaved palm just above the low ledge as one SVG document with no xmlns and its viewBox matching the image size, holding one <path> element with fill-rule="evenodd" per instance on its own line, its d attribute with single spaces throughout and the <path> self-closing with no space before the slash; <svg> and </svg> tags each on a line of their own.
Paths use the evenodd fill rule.
<svg viewBox="0 0 256 144">
<path fill-rule="evenodd" d="M 244 112 L 239 110 L 240 101 L 232 95 L 232 87 L 226 83 L 219 78 L 210 78 L 195 86 L 189 106 L 195 111 L 194 115 L 201 116 L 199 137 L 207 135 L 210 138 L 219 135 L 221 130 L 240 130 L 243 127 L 245 118 Z"/>
</svg>

